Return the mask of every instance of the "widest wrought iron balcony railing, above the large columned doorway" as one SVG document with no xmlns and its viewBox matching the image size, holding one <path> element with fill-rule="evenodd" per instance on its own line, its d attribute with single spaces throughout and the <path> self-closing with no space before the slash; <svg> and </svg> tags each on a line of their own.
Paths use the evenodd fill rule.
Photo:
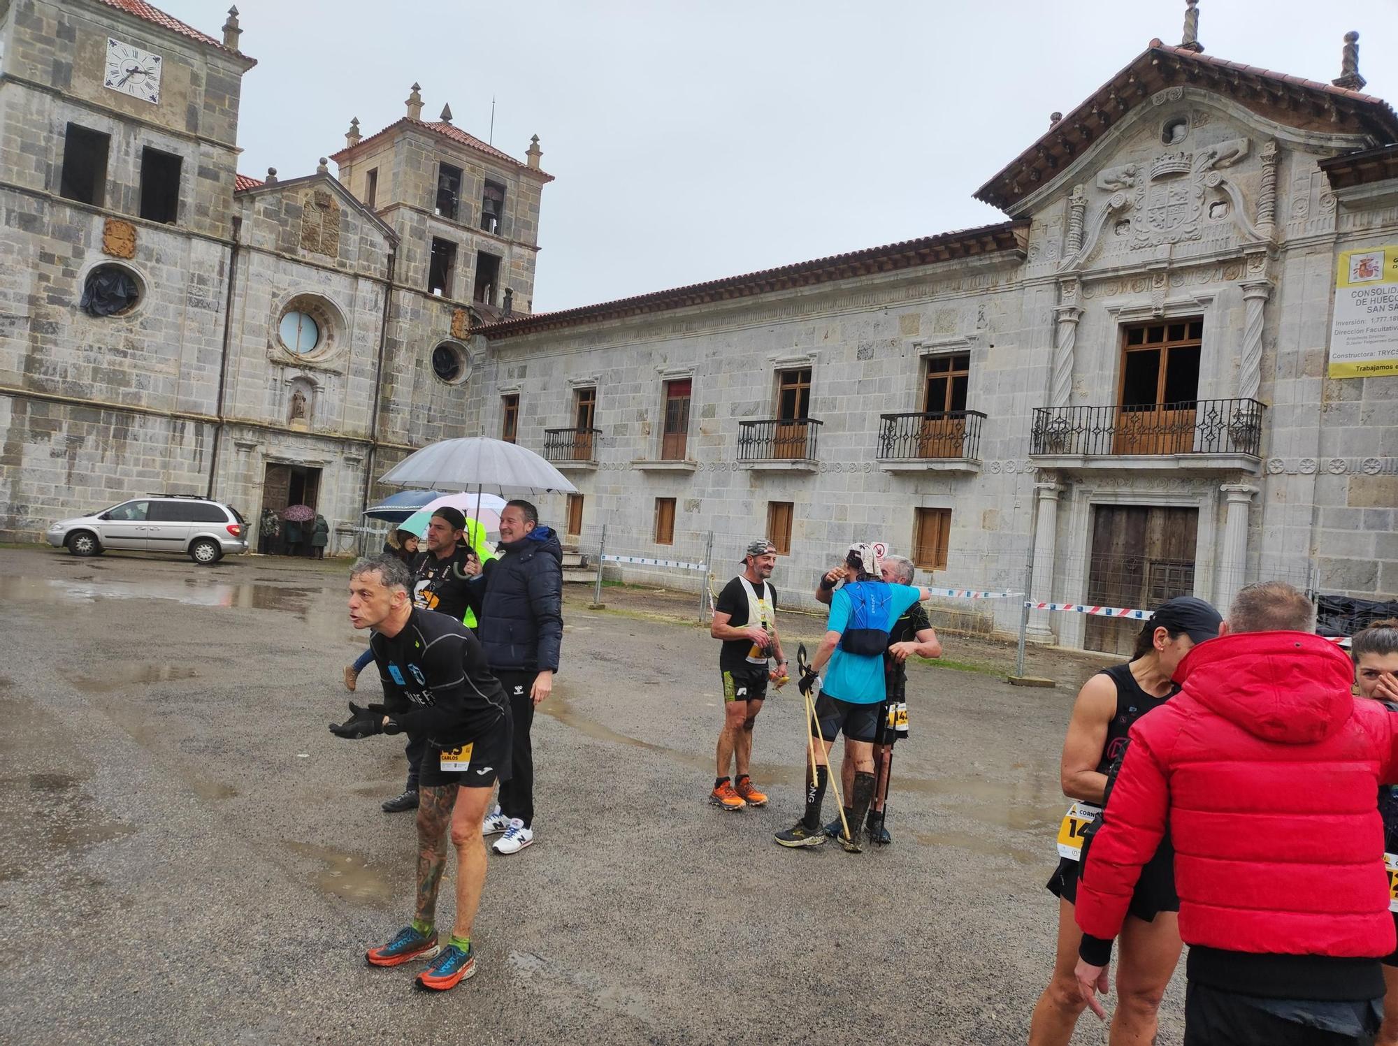
<svg viewBox="0 0 1398 1046">
<path fill-rule="evenodd" d="M 1039 407 L 1030 454 L 1262 456 L 1257 400 L 1190 400 L 1142 407 Z"/>
</svg>

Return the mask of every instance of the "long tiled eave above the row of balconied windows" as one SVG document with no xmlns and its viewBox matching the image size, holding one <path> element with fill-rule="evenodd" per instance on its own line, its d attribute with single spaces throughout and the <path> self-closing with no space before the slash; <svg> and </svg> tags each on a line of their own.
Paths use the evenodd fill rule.
<svg viewBox="0 0 1398 1046">
<path fill-rule="evenodd" d="M 535 312 L 527 316 L 512 316 L 498 323 L 474 327 L 473 333 L 492 337 L 528 334 L 535 330 L 573 327 L 582 323 L 603 322 L 636 316 L 647 312 L 682 309 L 686 305 L 721 302 L 735 298 L 749 298 L 770 291 L 783 291 L 811 284 L 846 280 L 871 273 L 888 273 L 914 266 L 934 264 L 956 257 L 976 257 L 998 252 L 1018 252 L 1023 256 L 1029 221 L 1004 221 L 997 225 L 981 225 L 973 229 L 941 232 L 935 236 L 888 243 L 879 248 L 851 250 L 844 255 L 830 255 L 811 262 L 797 262 L 777 268 L 763 268 L 742 275 L 728 275 L 702 284 L 654 291 L 632 298 L 619 298 L 597 305 L 583 305 L 558 312 Z"/>
</svg>

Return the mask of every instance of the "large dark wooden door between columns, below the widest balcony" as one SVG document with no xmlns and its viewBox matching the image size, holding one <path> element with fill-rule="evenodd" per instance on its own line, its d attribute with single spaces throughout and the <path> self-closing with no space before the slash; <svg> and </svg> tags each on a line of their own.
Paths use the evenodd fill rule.
<svg viewBox="0 0 1398 1046">
<path fill-rule="evenodd" d="M 1086 603 L 1152 610 L 1174 596 L 1192 596 L 1198 526 L 1198 509 L 1097 505 Z M 1130 656 L 1141 625 L 1134 618 L 1092 615 L 1083 645 Z"/>
</svg>

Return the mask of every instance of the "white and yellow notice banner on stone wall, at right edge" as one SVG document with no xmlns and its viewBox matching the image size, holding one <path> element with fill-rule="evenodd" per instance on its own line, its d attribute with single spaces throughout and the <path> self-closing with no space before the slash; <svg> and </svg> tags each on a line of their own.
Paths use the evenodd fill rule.
<svg viewBox="0 0 1398 1046">
<path fill-rule="evenodd" d="M 1343 250 L 1335 268 L 1329 376 L 1398 375 L 1398 245 Z"/>
</svg>

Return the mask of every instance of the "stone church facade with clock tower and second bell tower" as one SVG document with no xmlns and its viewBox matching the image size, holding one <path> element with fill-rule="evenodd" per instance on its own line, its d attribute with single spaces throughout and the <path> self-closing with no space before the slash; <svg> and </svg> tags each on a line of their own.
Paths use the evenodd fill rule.
<svg viewBox="0 0 1398 1046">
<path fill-rule="evenodd" d="M 345 551 L 372 477 L 467 434 L 473 324 L 530 308 L 537 140 L 425 122 L 414 85 L 344 180 L 238 175 L 240 32 L 0 8 L 0 538 L 176 492 L 306 503 Z"/>
</svg>

